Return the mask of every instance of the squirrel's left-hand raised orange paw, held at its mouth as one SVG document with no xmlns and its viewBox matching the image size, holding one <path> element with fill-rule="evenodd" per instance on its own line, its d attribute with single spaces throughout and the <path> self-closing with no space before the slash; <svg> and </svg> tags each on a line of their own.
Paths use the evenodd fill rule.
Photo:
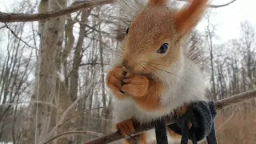
<svg viewBox="0 0 256 144">
<path fill-rule="evenodd" d="M 106 75 L 106 86 L 112 90 L 114 96 L 118 98 L 126 97 L 126 94 L 122 92 L 122 79 L 125 78 L 122 67 L 116 67 L 113 70 L 110 70 Z"/>
</svg>

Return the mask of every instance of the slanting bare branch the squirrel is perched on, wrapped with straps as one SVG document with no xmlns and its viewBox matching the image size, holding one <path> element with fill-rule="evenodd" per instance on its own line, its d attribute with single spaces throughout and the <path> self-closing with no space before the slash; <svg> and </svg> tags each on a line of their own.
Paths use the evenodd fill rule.
<svg viewBox="0 0 256 144">
<path fill-rule="evenodd" d="M 234 104 L 245 102 L 245 101 L 248 101 L 253 98 L 256 98 L 256 90 L 249 90 L 249 91 L 246 91 L 241 94 L 236 94 L 230 98 L 226 98 L 226 99 L 220 100 L 218 102 L 215 102 L 216 110 L 222 110 L 229 106 L 233 106 Z M 166 125 L 170 125 L 174 122 L 175 122 L 174 119 L 172 119 L 170 117 L 166 117 Z M 141 134 L 143 131 L 150 130 L 153 128 L 154 128 L 154 122 L 151 122 L 150 124 L 146 124 L 146 125 L 141 125 L 141 126 L 138 124 L 135 124 L 135 126 L 134 126 L 135 132 L 134 132 L 134 134 L 131 135 L 131 137 Z M 100 138 L 96 138 L 92 141 L 84 142 L 84 144 L 110 143 L 110 142 L 118 141 L 122 138 L 123 138 L 122 134 L 120 134 L 120 133 L 118 133 L 118 131 L 116 131 L 111 134 L 106 134 Z"/>
</svg>

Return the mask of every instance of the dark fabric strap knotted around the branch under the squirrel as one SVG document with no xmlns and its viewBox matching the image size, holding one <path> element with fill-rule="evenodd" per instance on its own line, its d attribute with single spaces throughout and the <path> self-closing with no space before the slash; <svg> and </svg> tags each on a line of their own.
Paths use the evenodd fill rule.
<svg viewBox="0 0 256 144">
<path fill-rule="evenodd" d="M 168 127 L 182 135 L 181 144 L 187 144 L 189 139 L 197 144 L 206 138 L 208 144 L 217 144 L 214 118 L 216 116 L 214 102 L 194 102 L 181 117 L 175 118 L 175 123 Z M 187 122 L 192 123 L 189 129 Z"/>
</svg>

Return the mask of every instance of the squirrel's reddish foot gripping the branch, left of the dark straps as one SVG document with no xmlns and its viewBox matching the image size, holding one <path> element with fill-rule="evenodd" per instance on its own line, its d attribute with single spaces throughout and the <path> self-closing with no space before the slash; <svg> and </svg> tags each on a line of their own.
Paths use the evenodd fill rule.
<svg viewBox="0 0 256 144">
<path fill-rule="evenodd" d="M 135 131 L 133 119 L 118 122 L 117 124 L 115 124 L 115 126 L 117 130 L 120 130 L 120 133 L 124 137 L 126 137 L 128 134 L 132 134 Z"/>
</svg>

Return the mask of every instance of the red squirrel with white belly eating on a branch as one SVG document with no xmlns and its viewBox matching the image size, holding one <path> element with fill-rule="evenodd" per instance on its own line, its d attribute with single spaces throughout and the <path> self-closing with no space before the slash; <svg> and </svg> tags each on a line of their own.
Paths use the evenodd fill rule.
<svg viewBox="0 0 256 144">
<path fill-rule="evenodd" d="M 182 115 L 190 102 L 207 101 L 203 74 L 182 50 L 206 7 L 207 0 L 190 0 L 182 10 L 171 10 L 166 0 L 149 0 L 132 19 L 120 46 L 121 58 L 106 75 L 115 126 L 124 137 L 134 132 L 134 121 L 152 122 L 172 112 Z M 177 137 L 167 131 L 170 138 Z M 150 142 L 152 136 L 145 132 L 138 143 Z"/>
</svg>

